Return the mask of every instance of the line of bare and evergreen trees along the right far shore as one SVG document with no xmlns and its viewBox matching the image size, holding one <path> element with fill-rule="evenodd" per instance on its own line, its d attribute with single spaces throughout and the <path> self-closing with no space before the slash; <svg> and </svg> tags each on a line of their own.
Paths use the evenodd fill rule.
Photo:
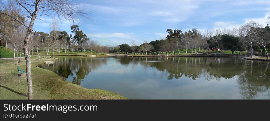
<svg viewBox="0 0 270 121">
<path fill-rule="evenodd" d="M 136 45 L 132 41 L 132 45 L 122 44 L 114 48 L 113 52 L 124 53 L 141 53 L 141 54 L 175 54 L 180 50 L 185 53 L 203 53 L 206 51 L 230 50 L 232 54 L 235 51 L 251 51 L 261 50 L 263 54 L 269 58 L 270 50 L 270 29 L 269 25 L 263 27 L 258 22 L 249 21 L 247 24 L 233 29 L 215 29 L 213 31 L 205 30 L 199 32 L 198 29 L 182 32 L 181 29 L 167 29 L 168 33 L 165 39 L 156 41 L 145 41 L 141 45 Z"/>
</svg>

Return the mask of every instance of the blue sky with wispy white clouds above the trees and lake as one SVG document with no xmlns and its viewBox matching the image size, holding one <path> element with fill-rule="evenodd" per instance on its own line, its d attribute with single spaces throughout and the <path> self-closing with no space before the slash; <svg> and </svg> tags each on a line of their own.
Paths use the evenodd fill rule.
<svg viewBox="0 0 270 121">
<path fill-rule="evenodd" d="M 254 20 L 266 25 L 270 0 L 91 0 L 73 1 L 91 11 L 75 25 L 101 45 L 137 45 L 165 38 L 166 29 L 199 31 L 233 28 Z M 52 18 L 36 20 L 34 31 L 49 33 Z M 73 23 L 62 20 L 60 30 L 72 34 Z"/>
</svg>

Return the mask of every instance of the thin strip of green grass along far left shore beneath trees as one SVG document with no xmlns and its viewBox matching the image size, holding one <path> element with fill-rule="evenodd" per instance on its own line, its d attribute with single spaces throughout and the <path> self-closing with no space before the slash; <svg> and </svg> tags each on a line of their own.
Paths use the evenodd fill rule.
<svg viewBox="0 0 270 121">
<path fill-rule="evenodd" d="M 38 52 L 38 54 L 39 55 L 46 55 L 47 53 L 46 53 L 46 51 L 41 51 L 41 52 Z M 30 55 L 32 55 L 32 52 L 30 53 Z M 37 52 L 33 52 L 33 55 L 37 55 Z M 49 52 L 48 55 L 51 56 L 52 52 Z M 54 55 L 55 56 L 90 56 L 90 55 L 106 56 L 105 53 L 103 55 L 103 52 L 99 53 L 99 54 L 96 54 L 96 53 L 92 52 L 92 54 L 91 54 L 90 51 L 86 51 L 85 53 L 84 53 L 84 51 L 79 51 L 79 52 L 78 51 L 73 51 L 73 52 L 67 52 L 67 53 L 62 52 L 62 51 L 59 53 L 59 52 L 55 51 Z"/>
</svg>

